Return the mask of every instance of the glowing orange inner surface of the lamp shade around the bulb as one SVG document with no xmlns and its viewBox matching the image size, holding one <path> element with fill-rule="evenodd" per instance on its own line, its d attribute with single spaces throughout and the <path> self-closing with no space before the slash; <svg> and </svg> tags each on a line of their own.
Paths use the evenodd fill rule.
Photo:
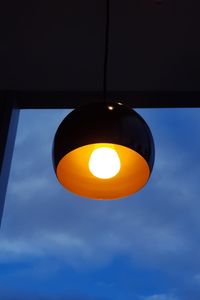
<svg viewBox="0 0 200 300">
<path fill-rule="evenodd" d="M 91 172 L 91 156 L 100 148 L 111 149 L 110 152 L 113 151 L 119 158 L 118 171 L 112 177 L 99 178 Z M 105 161 L 100 164 L 103 167 L 104 163 L 106 168 Z M 115 161 L 115 164 L 118 163 Z M 56 174 L 60 183 L 75 194 L 112 200 L 140 190 L 148 181 L 150 170 L 146 160 L 136 151 L 121 145 L 98 143 L 82 146 L 66 154 L 58 163 Z"/>
</svg>

